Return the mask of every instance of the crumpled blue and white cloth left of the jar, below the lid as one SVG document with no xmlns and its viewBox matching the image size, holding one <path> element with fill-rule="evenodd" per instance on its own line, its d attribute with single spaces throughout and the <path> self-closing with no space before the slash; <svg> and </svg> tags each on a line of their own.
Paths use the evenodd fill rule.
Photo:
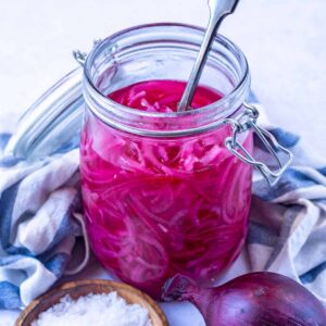
<svg viewBox="0 0 326 326">
<path fill-rule="evenodd" d="M 0 134 L 0 147 L 8 138 Z M 23 308 L 63 275 L 83 234 L 72 217 L 78 163 L 78 149 L 29 164 L 0 160 L 0 309 Z"/>
</svg>

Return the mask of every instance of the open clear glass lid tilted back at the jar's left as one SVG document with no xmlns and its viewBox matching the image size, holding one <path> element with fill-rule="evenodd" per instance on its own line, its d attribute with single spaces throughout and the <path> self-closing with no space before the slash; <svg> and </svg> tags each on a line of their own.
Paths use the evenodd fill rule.
<svg viewBox="0 0 326 326">
<path fill-rule="evenodd" d="M 46 91 L 20 118 L 4 155 L 35 160 L 77 147 L 83 120 L 83 68 Z"/>
</svg>

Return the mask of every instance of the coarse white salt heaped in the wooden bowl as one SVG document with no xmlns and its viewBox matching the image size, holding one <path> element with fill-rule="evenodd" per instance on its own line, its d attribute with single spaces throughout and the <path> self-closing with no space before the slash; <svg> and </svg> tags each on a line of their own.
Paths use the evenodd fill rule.
<svg viewBox="0 0 326 326">
<path fill-rule="evenodd" d="M 116 292 L 90 293 L 73 300 L 68 294 L 43 313 L 32 326 L 152 326 L 149 312 L 128 304 Z"/>
</svg>

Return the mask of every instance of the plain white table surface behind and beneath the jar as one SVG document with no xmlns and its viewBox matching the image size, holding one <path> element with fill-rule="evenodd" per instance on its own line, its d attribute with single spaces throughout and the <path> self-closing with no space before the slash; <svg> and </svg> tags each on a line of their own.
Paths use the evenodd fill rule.
<svg viewBox="0 0 326 326">
<path fill-rule="evenodd" d="M 76 66 L 72 49 L 133 25 L 181 22 L 204 26 L 206 0 L 0 0 L 0 130 Z M 273 123 L 326 150 L 326 1 L 242 0 L 221 33 L 246 53 L 252 86 Z M 243 254 L 225 278 L 244 272 Z M 103 276 L 95 268 L 92 275 Z M 172 326 L 203 325 L 189 303 L 164 305 Z M 17 312 L 0 311 L 0 326 Z"/>
</svg>

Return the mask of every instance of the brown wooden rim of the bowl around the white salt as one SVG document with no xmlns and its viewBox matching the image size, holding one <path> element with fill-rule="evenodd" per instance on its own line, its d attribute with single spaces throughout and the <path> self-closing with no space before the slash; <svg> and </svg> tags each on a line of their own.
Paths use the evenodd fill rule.
<svg viewBox="0 0 326 326">
<path fill-rule="evenodd" d="M 15 326 L 30 326 L 32 322 L 37 319 L 40 313 L 57 304 L 66 294 L 76 300 L 88 293 L 109 293 L 112 291 L 116 291 L 128 303 L 138 303 L 147 309 L 153 326 L 168 326 L 163 311 L 149 296 L 126 284 L 102 279 L 70 281 L 51 290 L 34 300 L 22 312 Z"/>
</svg>

